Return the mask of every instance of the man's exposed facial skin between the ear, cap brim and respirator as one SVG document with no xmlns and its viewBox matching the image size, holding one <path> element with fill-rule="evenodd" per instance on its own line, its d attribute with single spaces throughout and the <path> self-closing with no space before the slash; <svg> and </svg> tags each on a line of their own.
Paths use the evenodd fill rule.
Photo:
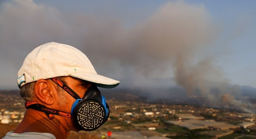
<svg viewBox="0 0 256 139">
<path fill-rule="evenodd" d="M 90 88 L 92 86 L 92 83 L 82 80 L 82 79 L 78 79 L 78 78 L 74 78 L 71 76 L 68 76 L 66 79 L 66 84 L 67 86 L 69 86 L 73 91 L 75 91 L 80 98 L 83 98 L 85 92 L 88 90 L 88 88 Z M 71 113 L 71 107 L 75 101 L 75 99 L 70 96 L 65 90 L 62 89 L 62 92 L 59 94 L 63 94 L 65 95 L 65 99 L 64 99 L 64 104 L 65 105 L 60 105 L 59 106 L 59 110 L 64 111 L 64 112 L 68 112 Z M 58 100 L 63 99 L 62 96 L 59 96 Z M 73 118 L 68 118 L 68 120 L 66 120 L 67 117 L 61 117 L 64 118 L 63 120 L 65 120 L 67 122 L 67 130 L 72 130 L 72 131 L 79 131 L 79 129 L 76 127 L 75 123 L 73 122 Z"/>
</svg>

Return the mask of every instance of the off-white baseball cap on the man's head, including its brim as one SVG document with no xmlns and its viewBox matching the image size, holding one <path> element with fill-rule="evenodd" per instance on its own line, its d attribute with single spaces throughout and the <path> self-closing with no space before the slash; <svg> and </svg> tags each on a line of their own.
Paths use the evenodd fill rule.
<svg viewBox="0 0 256 139">
<path fill-rule="evenodd" d="M 58 76 L 72 76 L 113 88 L 120 81 L 97 74 L 90 60 L 78 49 L 56 42 L 45 43 L 28 54 L 18 71 L 18 86 Z"/>
</svg>

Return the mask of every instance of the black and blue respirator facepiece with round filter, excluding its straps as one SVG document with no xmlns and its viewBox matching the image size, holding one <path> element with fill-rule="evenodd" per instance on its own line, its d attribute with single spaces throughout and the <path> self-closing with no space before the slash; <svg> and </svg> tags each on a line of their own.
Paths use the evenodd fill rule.
<svg viewBox="0 0 256 139">
<path fill-rule="evenodd" d="M 109 117 L 109 106 L 96 85 L 91 86 L 83 99 L 77 99 L 71 109 L 75 124 L 80 130 L 99 128 Z"/>
</svg>

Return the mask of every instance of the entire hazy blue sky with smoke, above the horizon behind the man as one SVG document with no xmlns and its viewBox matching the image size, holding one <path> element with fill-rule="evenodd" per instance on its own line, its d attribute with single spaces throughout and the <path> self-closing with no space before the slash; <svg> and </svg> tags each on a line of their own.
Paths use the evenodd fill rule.
<svg viewBox="0 0 256 139">
<path fill-rule="evenodd" d="M 121 87 L 186 88 L 202 79 L 256 87 L 255 7 L 254 0 L 5 0 L 0 87 L 18 89 L 26 55 L 50 41 L 77 47 Z"/>
</svg>

